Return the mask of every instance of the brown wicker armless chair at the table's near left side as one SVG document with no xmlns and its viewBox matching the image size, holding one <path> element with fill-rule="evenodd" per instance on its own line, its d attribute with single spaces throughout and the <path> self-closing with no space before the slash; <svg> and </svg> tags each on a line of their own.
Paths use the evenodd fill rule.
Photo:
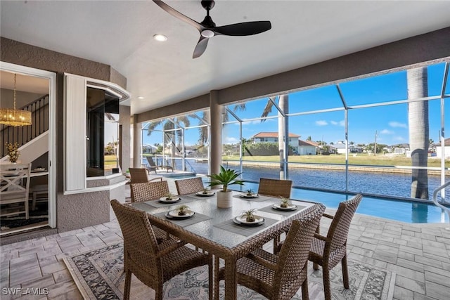
<svg viewBox="0 0 450 300">
<path fill-rule="evenodd" d="M 186 270 L 208 266 L 209 298 L 212 299 L 212 256 L 184 246 L 183 242 L 167 240 L 158 244 L 145 211 L 111 200 L 124 237 L 125 286 L 123 299 L 129 299 L 131 274 L 155 290 L 161 300 L 167 280 Z"/>
</svg>

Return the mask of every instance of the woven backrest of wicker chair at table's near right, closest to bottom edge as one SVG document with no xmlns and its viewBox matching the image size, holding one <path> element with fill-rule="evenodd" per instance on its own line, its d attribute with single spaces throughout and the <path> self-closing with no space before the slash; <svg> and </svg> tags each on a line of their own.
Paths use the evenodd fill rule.
<svg viewBox="0 0 450 300">
<path fill-rule="evenodd" d="M 298 278 L 302 270 L 307 268 L 309 249 L 323 211 L 325 206 L 317 204 L 314 211 L 294 220 L 290 226 L 278 253 L 278 266 L 274 276 L 274 290 L 278 291 L 278 299 L 283 298 L 285 293 L 295 294 L 300 289 L 303 280 Z"/>
</svg>

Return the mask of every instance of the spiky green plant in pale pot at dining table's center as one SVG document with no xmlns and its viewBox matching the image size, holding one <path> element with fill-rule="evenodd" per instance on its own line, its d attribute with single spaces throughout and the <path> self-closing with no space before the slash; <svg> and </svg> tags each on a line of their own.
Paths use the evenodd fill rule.
<svg viewBox="0 0 450 300">
<path fill-rule="evenodd" d="M 232 169 L 225 169 L 220 166 L 219 174 L 208 175 L 212 180 L 210 186 L 222 185 L 222 189 L 217 193 L 217 207 L 228 208 L 232 206 L 233 193 L 228 189 L 229 185 L 243 185 L 243 181 L 236 179 L 240 173 Z"/>
</svg>

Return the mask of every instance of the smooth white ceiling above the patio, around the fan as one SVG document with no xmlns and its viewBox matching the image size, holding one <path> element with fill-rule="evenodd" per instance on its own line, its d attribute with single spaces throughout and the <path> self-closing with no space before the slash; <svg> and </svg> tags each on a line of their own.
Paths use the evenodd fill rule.
<svg viewBox="0 0 450 300">
<path fill-rule="evenodd" d="M 200 1 L 165 1 L 201 22 Z M 450 1 L 217 1 L 217 26 L 270 20 L 249 37 L 200 35 L 153 1 L 0 1 L 1 36 L 111 65 L 131 113 L 450 26 Z M 152 39 L 165 34 L 166 42 Z M 138 96 L 145 99 L 139 100 Z"/>
</svg>

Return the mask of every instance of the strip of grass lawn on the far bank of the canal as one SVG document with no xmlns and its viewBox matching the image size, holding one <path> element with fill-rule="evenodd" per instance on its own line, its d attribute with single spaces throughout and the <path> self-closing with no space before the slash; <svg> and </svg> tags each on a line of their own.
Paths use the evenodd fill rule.
<svg viewBox="0 0 450 300">
<path fill-rule="evenodd" d="M 222 157 L 223 160 L 239 160 L 238 156 Z M 278 155 L 245 156 L 244 161 L 279 162 Z M 345 164 L 345 155 L 291 155 L 289 162 L 304 162 L 314 164 Z M 349 155 L 349 164 L 363 164 L 375 166 L 411 166 L 411 158 L 400 155 Z M 441 167 L 441 159 L 428 159 L 428 167 Z M 445 160 L 445 167 L 450 167 L 450 159 Z"/>
</svg>

